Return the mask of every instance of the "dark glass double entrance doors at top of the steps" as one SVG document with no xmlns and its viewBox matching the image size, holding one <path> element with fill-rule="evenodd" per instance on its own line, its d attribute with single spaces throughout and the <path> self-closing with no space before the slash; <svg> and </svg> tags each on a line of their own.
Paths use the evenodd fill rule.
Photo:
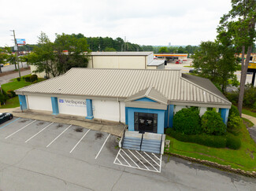
<svg viewBox="0 0 256 191">
<path fill-rule="evenodd" d="M 158 114 L 135 112 L 134 127 L 139 133 L 158 133 Z"/>
</svg>

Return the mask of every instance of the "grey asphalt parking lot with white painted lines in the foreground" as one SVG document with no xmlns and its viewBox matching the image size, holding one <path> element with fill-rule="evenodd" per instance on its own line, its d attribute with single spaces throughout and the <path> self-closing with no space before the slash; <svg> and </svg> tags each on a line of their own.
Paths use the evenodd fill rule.
<svg viewBox="0 0 256 191">
<path fill-rule="evenodd" d="M 169 156 L 117 148 L 108 133 L 14 117 L 0 125 L 1 190 L 252 190 L 256 182 Z M 162 160 L 162 163 L 161 163 Z M 143 170 L 143 171 L 142 171 Z"/>
</svg>

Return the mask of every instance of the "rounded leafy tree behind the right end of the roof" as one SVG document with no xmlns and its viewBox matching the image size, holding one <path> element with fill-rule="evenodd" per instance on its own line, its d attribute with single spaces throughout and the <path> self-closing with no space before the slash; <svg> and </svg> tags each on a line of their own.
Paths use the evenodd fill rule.
<svg viewBox="0 0 256 191">
<path fill-rule="evenodd" d="M 237 59 L 230 46 L 223 46 L 221 42 L 201 42 L 193 58 L 195 68 L 201 68 L 198 75 L 221 86 L 222 92 L 228 86 L 228 79 L 236 78 Z"/>
</svg>

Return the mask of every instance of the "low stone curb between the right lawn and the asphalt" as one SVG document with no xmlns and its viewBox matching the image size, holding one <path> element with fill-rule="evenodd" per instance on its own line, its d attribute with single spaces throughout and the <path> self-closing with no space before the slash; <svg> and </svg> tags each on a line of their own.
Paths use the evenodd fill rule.
<svg viewBox="0 0 256 191">
<path fill-rule="evenodd" d="M 188 160 L 188 161 L 195 162 L 195 163 L 202 163 L 202 164 L 205 164 L 206 166 L 215 167 L 215 168 L 221 169 L 223 171 L 229 171 L 229 172 L 240 174 L 240 175 L 243 175 L 243 176 L 256 178 L 256 171 L 252 171 L 252 172 L 243 171 L 239 168 L 237 168 L 237 169 L 232 168 L 232 167 L 230 167 L 230 165 L 222 165 L 222 164 L 219 164 L 219 163 L 211 162 L 209 160 L 199 160 L 199 159 L 195 159 L 195 158 L 190 157 L 190 156 L 183 156 L 183 155 L 179 155 L 179 154 L 176 154 L 176 153 L 173 153 L 173 152 L 165 152 L 165 154 L 170 155 L 170 156 L 176 156 L 176 157 L 179 157 L 181 159 Z"/>
</svg>

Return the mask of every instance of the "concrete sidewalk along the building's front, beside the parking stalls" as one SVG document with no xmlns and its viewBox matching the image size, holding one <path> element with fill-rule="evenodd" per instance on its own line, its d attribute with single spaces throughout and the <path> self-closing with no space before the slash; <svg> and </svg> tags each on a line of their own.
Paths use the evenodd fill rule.
<svg viewBox="0 0 256 191">
<path fill-rule="evenodd" d="M 3 108 L 0 112 L 11 112 L 15 117 L 37 119 L 43 121 L 50 121 L 54 123 L 66 123 L 70 125 L 76 125 L 80 127 L 86 127 L 91 130 L 98 130 L 109 134 L 121 137 L 124 131 L 123 123 L 115 123 L 107 120 L 98 119 L 85 119 L 82 116 L 70 116 L 59 114 L 54 116 L 51 112 L 44 112 L 39 110 L 27 110 L 24 112 L 20 111 L 20 108 Z"/>
</svg>

